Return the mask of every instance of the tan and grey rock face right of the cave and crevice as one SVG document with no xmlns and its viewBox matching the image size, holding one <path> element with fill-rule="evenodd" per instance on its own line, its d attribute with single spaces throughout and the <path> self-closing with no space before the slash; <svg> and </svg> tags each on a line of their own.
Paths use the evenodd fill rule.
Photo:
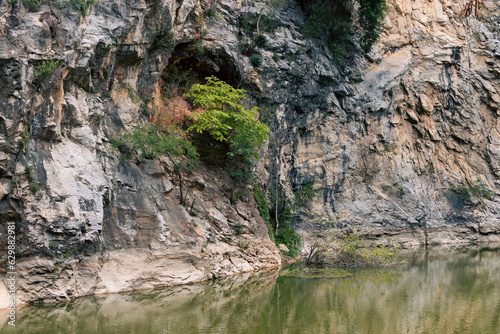
<svg viewBox="0 0 500 334">
<path fill-rule="evenodd" d="M 314 180 L 312 207 L 366 233 L 498 240 L 500 6 L 487 2 L 481 20 L 450 1 L 389 7 L 371 61 L 310 97 L 324 105 L 285 116 L 282 174 L 290 190 Z"/>
</svg>

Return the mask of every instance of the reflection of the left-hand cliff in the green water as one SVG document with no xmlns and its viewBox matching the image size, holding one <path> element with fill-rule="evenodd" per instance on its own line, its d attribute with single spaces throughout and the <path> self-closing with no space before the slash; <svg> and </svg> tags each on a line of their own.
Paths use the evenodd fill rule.
<svg viewBox="0 0 500 334">
<path fill-rule="evenodd" d="M 277 274 L 274 269 L 165 290 L 27 306 L 18 310 L 15 329 L 7 325 L 6 311 L 0 311 L 0 332 L 190 334 L 226 328 L 235 333 L 233 323 L 260 317 Z"/>
</svg>

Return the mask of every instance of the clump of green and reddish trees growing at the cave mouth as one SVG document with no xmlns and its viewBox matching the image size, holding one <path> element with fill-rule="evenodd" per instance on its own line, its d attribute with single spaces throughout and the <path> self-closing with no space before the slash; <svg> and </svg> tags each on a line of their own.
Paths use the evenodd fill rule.
<svg viewBox="0 0 500 334">
<path fill-rule="evenodd" d="M 269 128 L 258 121 L 258 107 L 243 107 L 244 94 L 243 89 L 235 89 L 214 76 L 207 77 L 206 84 L 193 84 L 186 93 L 195 107 L 201 107 L 191 116 L 186 115 L 192 122 L 191 126 L 182 128 L 171 124 L 179 120 L 169 114 L 172 112 L 169 108 L 161 112 L 155 110 L 151 123 L 139 125 L 123 136 L 113 138 L 111 143 L 124 159 L 132 158 L 132 154 L 140 159 L 167 156 L 179 179 L 182 205 L 187 196 L 183 191 L 182 170 L 194 169 L 200 158 L 211 161 L 214 151 L 206 149 L 214 144 L 211 141 L 223 143 L 215 143 L 222 147 L 227 157 L 227 160 L 222 158 L 223 163 L 231 164 L 231 175 L 236 183 L 246 186 L 251 179 L 250 167 L 254 160 L 259 159 L 258 150 L 268 139 Z M 195 134 L 205 137 L 200 140 Z M 216 155 L 219 153 L 215 151 Z"/>
</svg>

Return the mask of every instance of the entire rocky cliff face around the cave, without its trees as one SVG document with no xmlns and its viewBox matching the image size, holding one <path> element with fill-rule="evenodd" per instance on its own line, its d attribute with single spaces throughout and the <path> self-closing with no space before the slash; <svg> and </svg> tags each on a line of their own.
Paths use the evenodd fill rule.
<svg viewBox="0 0 500 334">
<path fill-rule="evenodd" d="M 312 185 L 305 207 L 405 245 L 499 240 L 500 5 L 485 1 L 481 20 L 446 0 L 388 5 L 373 52 L 340 69 L 293 1 L 103 0 L 88 17 L 2 2 L 0 246 L 16 222 L 19 302 L 280 264 L 226 174 L 187 175 L 184 207 L 168 160 L 111 149 L 149 120 L 142 107 L 173 68 L 215 74 L 261 107 L 272 134 L 254 172 L 269 190 L 278 180 L 293 199 Z M 267 43 L 249 51 L 258 24 Z"/>
</svg>

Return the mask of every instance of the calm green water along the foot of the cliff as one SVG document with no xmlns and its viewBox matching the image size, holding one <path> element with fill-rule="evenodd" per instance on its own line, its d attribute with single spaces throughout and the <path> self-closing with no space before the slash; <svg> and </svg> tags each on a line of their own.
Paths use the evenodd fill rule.
<svg viewBox="0 0 500 334">
<path fill-rule="evenodd" d="M 500 333 L 500 248 L 420 250 L 405 258 L 351 276 L 275 270 L 24 307 L 15 330 L 0 311 L 0 332 Z"/>
</svg>

